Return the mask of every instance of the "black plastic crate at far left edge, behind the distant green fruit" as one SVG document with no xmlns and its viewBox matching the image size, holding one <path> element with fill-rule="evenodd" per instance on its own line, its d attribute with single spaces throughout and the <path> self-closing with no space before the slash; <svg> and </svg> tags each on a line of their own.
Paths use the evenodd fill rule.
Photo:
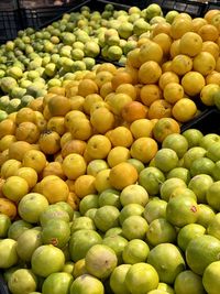
<svg viewBox="0 0 220 294">
<path fill-rule="evenodd" d="M 0 11 L 0 44 L 16 37 L 21 29 L 20 10 Z"/>
</svg>

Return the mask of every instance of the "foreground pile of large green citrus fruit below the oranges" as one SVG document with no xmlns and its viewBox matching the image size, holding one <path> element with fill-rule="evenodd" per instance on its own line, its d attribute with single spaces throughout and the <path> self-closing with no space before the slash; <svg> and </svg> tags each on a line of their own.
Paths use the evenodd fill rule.
<svg viewBox="0 0 220 294">
<path fill-rule="evenodd" d="M 30 193 L 19 220 L 0 215 L 12 294 L 219 293 L 220 137 L 173 133 L 150 165 L 134 162 L 136 184 L 87 195 L 79 211 Z"/>
</svg>

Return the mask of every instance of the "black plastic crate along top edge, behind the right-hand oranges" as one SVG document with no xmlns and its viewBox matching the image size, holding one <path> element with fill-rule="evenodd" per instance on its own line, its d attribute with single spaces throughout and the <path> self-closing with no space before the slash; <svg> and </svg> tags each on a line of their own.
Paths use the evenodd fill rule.
<svg viewBox="0 0 220 294">
<path fill-rule="evenodd" d="M 204 11 L 207 7 L 206 3 L 190 0 L 148 0 L 146 6 L 156 3 L 158 4 L 164 13 L 170 10 L 176 10 L 178 12 L 186 12 L 194 18 L 199 18 L 204 15 Z"/>
</svg>

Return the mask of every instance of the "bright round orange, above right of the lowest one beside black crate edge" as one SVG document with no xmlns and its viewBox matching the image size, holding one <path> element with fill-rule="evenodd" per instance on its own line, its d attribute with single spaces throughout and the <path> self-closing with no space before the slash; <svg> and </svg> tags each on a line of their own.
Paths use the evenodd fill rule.
<svg viewBox="0 0 220 294">
<path fill-rule="evenodd" d="M 182 86 L 184 87 L 184 91 L 189 96 L 196 96 L 200 94 L 205 85 L 206 81 L 204 76 L 197 72 L 188 72 L 182 78 Z"/>
</svg>

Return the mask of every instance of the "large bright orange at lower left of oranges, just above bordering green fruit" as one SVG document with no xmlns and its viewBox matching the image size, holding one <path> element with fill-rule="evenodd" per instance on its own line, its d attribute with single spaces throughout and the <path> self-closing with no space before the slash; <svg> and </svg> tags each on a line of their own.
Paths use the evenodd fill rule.
<svg viewBox="0 0 220 294">
<path fill-rule="evenodd" d="M 58 176 L 44 177 L 41 182 L 41 190 L 50 204 L 66 202 L 69 194 L 67 184 Z"/>
</svg>

